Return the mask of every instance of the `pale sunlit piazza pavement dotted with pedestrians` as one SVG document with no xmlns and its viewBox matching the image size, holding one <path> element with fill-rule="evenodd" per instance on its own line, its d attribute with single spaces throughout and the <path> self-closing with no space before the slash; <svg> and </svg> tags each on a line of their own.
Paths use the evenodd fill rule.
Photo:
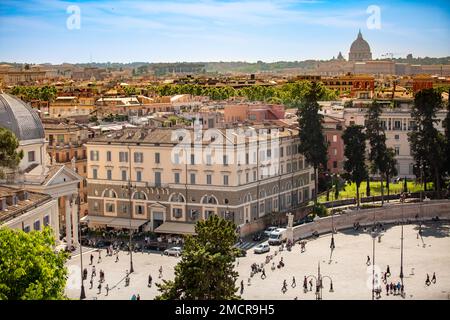
<svg viewBox="0 0 450 320">
<path fill-rule="evenodd" d="M 386 295 L 385 284 L 382 284 L 383 292 L 380 299 L 450 299 L 450 224 L 428 223 L 423 227 L 423 237 L 418 236 L 417 225 L 404 226 L 404 285 L 405 298 L 399 295 Z M 381 236 L 381 242 L 375 241 L 375 271 L 380 274 L 390 266 L 391 276 L 388 283 L 397 283 L 400 278 L 400 237 L 401 227 L 392 226 Z M 308 275 L 317 276 L 318 264 L 323 276 L 329 276 L 333 280 L 334 292 L 329 292 L 330 281 L 323 280 L 323 299 L 371 299 L 372 298 L 372 266 L 367 266 L 367 256 L 372 259 L 373 240 L 369 233 L 355 232 L 353 230 L 340 231 L 334 235 L 335 249 L 331 254 L 331 234 L 324 235 L 306 244 L 306 251 L 301 252 L 300 245 L 296 244 L 290 252 L 279 252 L 272 261 L 278 264 L 283 257 L 285 266 L 281 269 L 271 270 L 272 262 L 265 265 L 267 277 L 261 279 L 261 273 L 250 277 L 251 264 L 264 263 L 267 254 L 255 255 L 249 250 L 244 258 L 239 258 L 236 270 L 239 279 L 236 285 L 239 287 L 244 280 L 244 299 L 315 299 L 312 291 L 303 291 L 303 278 Z M 269 254 L 274 254 L 277 247 L 271 247 Z M 89 275 L 85 281 L 87 299 L 130 299 L 133 294 L 139 294 L 141 299 L 153 299 L 158 294 L 155 282 L 160 282 L 158 269 L 163 267 L 163 279 L 173 279 L 174 266 L 180 258 L 167 257 L 158 253 L 135 253 L 133 262 L 135 272 L 130 276 L 130 285 L 125 286 L 125 272 L 130 267 L 130 256 L 126 252 L 120 252 L 119 262 L 115 257 L 106 257 L 106 251 L 102 250 L 102 260 L 98 263 L 98 252 L 83 249 L 83 264 L 87 266 Z M 89 250 L 89 249 L 88 249 Z M 94 265 L 97 276 L 94 277 L 93 288 L 90 289 L 90 274 L 92 266 L 89 266 L 89 256 L 94 255 Z M 331 257 L 331 258 L 330 258 Z M 68 262 L 69 279 L 66 293 L 70 298 L 78 299 L 80 295 L 80 256 L 74 256 Z M 101 293 L 98 279 L 99 271 L 105 271 L 105 282 L 102 284 Z M 425 284 L 427 274 L 430 279 L 436 273 L 437 281 L 429 286 Z M 148 287 L 148 275 L 153 277 L 152 287 Z M 296 286 L 293 288 L 292 277 L 295 276 Z M 315 285 L 315 279 L 313 280 Z M 287 291 L 282 292 L 283 280 L 287 282 Z M 110 291 L 106 296 L 105 286 L 109 285 Z M 309 288 L 308 288 L 309 289 Z"/>
</svg>

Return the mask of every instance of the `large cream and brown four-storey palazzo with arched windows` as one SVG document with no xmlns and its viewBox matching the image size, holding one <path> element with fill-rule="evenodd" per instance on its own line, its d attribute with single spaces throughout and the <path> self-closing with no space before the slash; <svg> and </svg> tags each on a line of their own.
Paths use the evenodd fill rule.
<svg viewBox="0 0 450 320">
<path fill-rule="evenodd" d="M 262 127 L 270 134 L 278 130 L 278 138 L 246 134 Z M 92 139 L 87 143 L 89 214 L 83 220 L 92 227 L 186 234 L 212 214 L 244 225 L 311 198 L 313 170 L 298 153 L 297 130 L 264 125 L 235 130 L 231 135 L 214 130 L 208 140 L 208 133 L 186 129 L 192 144 L 163 128 Z M 225 147 L 234 151 L 220 154 Z"/>
</svg>

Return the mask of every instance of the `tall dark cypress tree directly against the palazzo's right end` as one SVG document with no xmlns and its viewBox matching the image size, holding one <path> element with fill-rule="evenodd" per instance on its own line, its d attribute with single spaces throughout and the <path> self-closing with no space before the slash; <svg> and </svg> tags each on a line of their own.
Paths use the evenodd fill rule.
<svg viewBox="0 0 450 320">
<path fill-rule="evenodd" d="M 314 167 L 314 204 L 317 205 L 318 170 L 327 166 L 328 144 L 323 135 L 323 115 L 319 113 L 320 105 L 317 101 L 323 94 L 323 86 L 311 82 L 303 101 L 298 103 L 299 152 Z"/>
</svg>

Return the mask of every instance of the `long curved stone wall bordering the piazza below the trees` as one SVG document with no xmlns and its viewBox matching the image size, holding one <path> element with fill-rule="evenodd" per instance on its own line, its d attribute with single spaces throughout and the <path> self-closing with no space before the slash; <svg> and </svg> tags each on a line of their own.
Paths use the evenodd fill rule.
<svg viewBox="0 0 450 320">
<path fill-rule="evenodd" d="M 294 227 L 294 239 L 311 236 L 315 231 L 319 234 L 331 231 L 332 225 L 336 230 L 352 228 L 354 223 L 361 226 L 371 226 L 375 222 L 393 223 L 400 220 L 431 220 L 438 216 L 440 219 L 450 219 L 449 200 L 431 200 L 421 203 L 386 204 L 382 208 L 352 211 L 341 215 L 320 218 L 311 223 Z"/>
</svg>

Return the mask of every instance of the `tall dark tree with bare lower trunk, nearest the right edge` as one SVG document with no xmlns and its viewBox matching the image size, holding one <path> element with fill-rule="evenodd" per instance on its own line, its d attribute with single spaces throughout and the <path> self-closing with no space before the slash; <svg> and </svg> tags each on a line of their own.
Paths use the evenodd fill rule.
<svg viewBox="0 0 450 320">
<path fill-rule="evenodd" d="M 409 133 L 411 154 L 416 164 L 430 167 L 434 178 L 436 195 L 440 198 L 441 180 L 445 172 L 445 138 L 436 128 L 439 122 L 436 112 L 442 107 L 441 94 L 435 89 L 424 89 L 416 93 L 411 116 L 416 122 Z"/>
</svg>

